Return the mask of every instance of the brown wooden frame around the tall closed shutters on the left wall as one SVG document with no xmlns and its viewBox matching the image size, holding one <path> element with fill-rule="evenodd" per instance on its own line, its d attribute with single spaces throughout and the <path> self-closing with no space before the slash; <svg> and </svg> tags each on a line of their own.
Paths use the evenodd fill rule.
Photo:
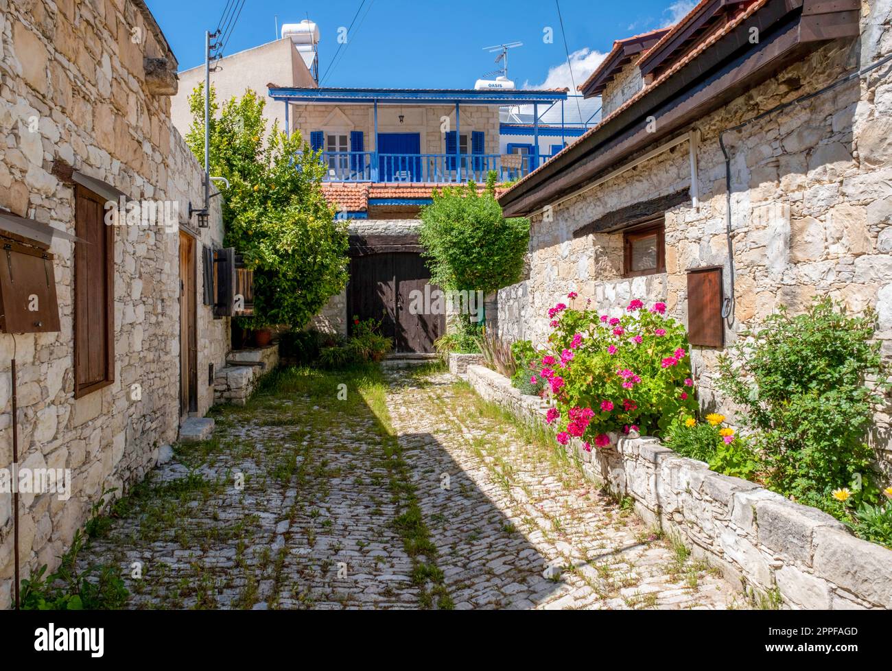
<svg viewBox="0 0 892 671">
<path fill-rule="evenodd" d="M 84 186 L 80 186 L 78 184 L 75 191 L 75 230 L 76 235 L 81 237 L 82 230 L 78 226 L 78 207 L 77 203 L 80 198 L 85 198 L 87 200 L 91 200 L 94 203 L 98 203 L 102 208 L 102 211 L 105 211 L 105 199 L 98 194 L 95 194 L 93 191 L 90 191 Z M 78 338 L 78 301 L 82 300 L 78 298 L 78 296 L 82 296 L 81 292 L 87 291 L 87 287 L 81 286 L 78 282 L 78 244 L 87 244 L 75 242 L 74 244 L 74 259 L 72 263 L 73 267 L 73 285 L 74 290 L 72 291 L 73 302 L 74 302 L 74 310 L 71 319 L 71 327 L 73 330 L 73 340 L 74 340 L 74 397 L 76 399 L 82 398 L 89 393 L 93 393 L 111 385 L 114 382 L 114 227 L 105 225 L 104 227 L 105 234 L 105 300 L 103 302 L 105 307 L 105 378 L 100 380 L 99 382 L 94 382 L 88 385 L 81 385 L 78 382 L 78 360 L 82 352 L 86 352 L 86 348 L 88 346 L 87 343 L 81 343 Z"/>
</svg>

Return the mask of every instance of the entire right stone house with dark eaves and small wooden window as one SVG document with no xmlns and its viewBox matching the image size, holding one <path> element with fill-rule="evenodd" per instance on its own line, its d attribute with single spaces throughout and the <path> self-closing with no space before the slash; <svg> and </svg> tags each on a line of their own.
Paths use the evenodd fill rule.
<svg viewBox="0 0 892 671">
<path fill-rule="evenodd" d="M 717 356 L 780 304 L 876 308 L 892 354 L 890 8 L 701 2 L 646 51 L 615 48 L 581 87 L 610 112 L 500 198 L 533 222 L 501 334 L 541 342 L 571 291 L 600 311 L 665 301 L 702 402 L 723 410 Z M 888 451 L 889 435 L 885 408 L 872 440 Z"/>
</svg>

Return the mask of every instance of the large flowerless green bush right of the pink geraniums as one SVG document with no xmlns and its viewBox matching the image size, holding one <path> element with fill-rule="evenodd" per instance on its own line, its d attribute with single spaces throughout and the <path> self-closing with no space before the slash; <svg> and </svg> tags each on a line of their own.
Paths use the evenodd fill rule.
<svg viewBox="0 0 892 671">
<path fill-rule="evenodd" d="M 888 385 L 866 383 L 884 374 L 874 327 L 872 313 L 823 299 L 795 317 L 781 308 L 720 358 L 718 386 L 743 408 L 773 491 L 834 514 L 839 487 L 854 484 L 855 504 L 877 500 L 864 434 Z"/>
</svg>

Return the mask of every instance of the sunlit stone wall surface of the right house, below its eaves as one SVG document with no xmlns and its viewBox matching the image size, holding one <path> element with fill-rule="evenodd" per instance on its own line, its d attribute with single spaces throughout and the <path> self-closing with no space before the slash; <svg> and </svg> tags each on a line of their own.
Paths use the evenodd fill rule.
<svg viewBox="0 0 892 671">
<path fill-rule="evenodd" d="M 696 121 L 699 203 L 665 214 L 665 275 L 645 286 L 624 285 L 621 233 L 574 238 L 574 230 L 608 212 L 690 188 L 687 143 L 660 153 L 595 189 L 531 218 L 531 271 L 523 326 L 500 324 L 541 343 L 549 333 L 546 311 L 579 294 L 607 309 L 615 293 L 648 302 L 665 300 L 670 314 L 687 322 L 687 271 L 724 267 L 730 286 L 725 237 L 726 191 L 718 135 L 772 107 L 818 91 L 892 50 L 889 0 L 865 4 L 858 41 L 835 40 Z M 883 71 L 878 70 L 879 71 Z M 725 342 L 756 327 L 784 304 L 802 311 L 813 296 L 830 295 L 855 313 L 879 313 L 878 338 L 892 357 L 892 86 L 888 75 L 855 80 L 790 107 L 725 137 L 731 152 L 734 319 Z M 615 166 L 619 167 L 619 166 Z M 646 292 L 646 293 L 644 293 Z M 520 311 L 510 312 L 519 319 Z M 516 316 L 516 317 L 515 317 Z M 714 390 L 721 351 L 694 347 L 692 366 L 701 402 L 733 416 Z M 871 442 L 890 450 L 892 406 L 879 409 Z"/>
</svg>

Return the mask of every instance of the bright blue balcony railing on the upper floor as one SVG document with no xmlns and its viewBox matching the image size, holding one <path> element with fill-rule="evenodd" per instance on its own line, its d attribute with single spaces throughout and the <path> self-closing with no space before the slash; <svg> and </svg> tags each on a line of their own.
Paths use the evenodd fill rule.
<svg viewBox="0 0 892 671">
<path fill-rule="evenodd" d="M 549 158 L 539 156 L 539 161 Z M 524 177 L 535 167 L 534 156 L 512 155 L 503 165 L 498 153 L 322 152 L 320 160 L 328 169 L 326 182 L 457 184 L 470 179 L 483 183 L 491 170 L 498 173 L 499 181 L 508 181 Z"/>
</svg>

